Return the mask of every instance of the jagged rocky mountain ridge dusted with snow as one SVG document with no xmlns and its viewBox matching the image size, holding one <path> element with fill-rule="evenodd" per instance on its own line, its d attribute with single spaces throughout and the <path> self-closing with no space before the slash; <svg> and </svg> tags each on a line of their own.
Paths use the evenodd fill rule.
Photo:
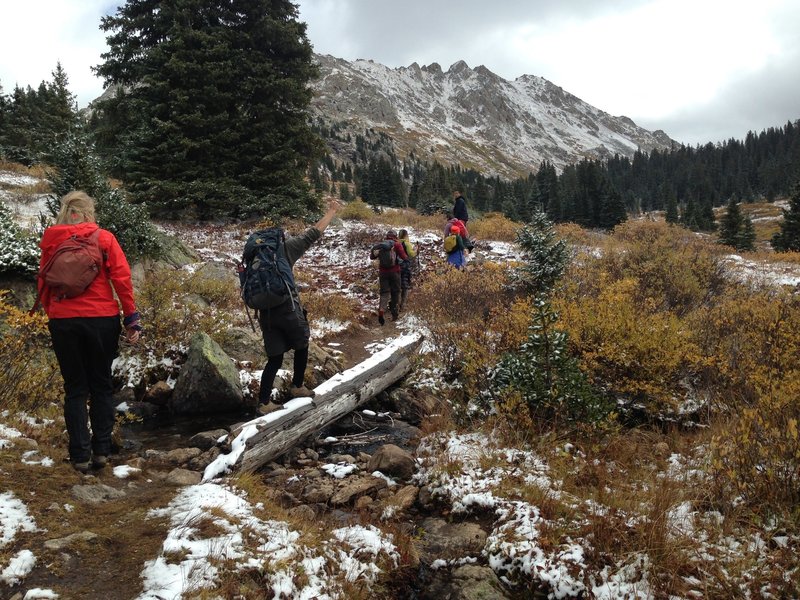
<svg viewBox="0 0 800 600">
<path fill-rule="evenodd" d="M 371 60 L 316 55 L 312 113 L 352 134 L 386 133 L 401 158 L 460 164 L 484 174 L 525 176 L 542 161 L 559 170 L 582 158 L 666 150 L 674 141 L 615 117 L 542 77 L 508 81 L 458 61 L 392 69 Z M 349 148 L 331 144 L 346 157 Z"/>
</svg>

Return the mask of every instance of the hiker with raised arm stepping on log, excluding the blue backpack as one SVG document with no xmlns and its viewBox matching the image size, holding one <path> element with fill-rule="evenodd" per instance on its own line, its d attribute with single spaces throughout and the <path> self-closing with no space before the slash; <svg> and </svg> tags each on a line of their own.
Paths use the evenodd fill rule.
<svg viewBox="0 0 800 600">
<path fill-rule="evenodd" d="M 286 258 L 292 267 L 305 254 L 306 250 L 322 237 L 322 232 L 333 220 L 338 209 L 338 202 L 331 201 L 328 211 L 314 227 L 310 227 L 301 235 L 286 238 L 284 244 Z M 311 329 L 308 326 L 306 310 L 300 304 L 299 296 L 295 293 L 293 298 L 283 304 L 269 310 L 259 311 L 258 324 L 261 326 L 264 350 L 267 353 L 267 364 L 261 374 L 261 387 L 258 392 L 258 403 L 265 405 L 262 412 L 279 408 L 278 404 L 271 402 L 272 386 L 275 383 L 275 376 L 283 364 L 283 355 L 289 350 L 294 350 L 292 385 L 289 388 L 290 397 L 313 397 L 314 392 L 303 385 L 308 365 L 308 342 L 311 339 Z"/>
</svg>

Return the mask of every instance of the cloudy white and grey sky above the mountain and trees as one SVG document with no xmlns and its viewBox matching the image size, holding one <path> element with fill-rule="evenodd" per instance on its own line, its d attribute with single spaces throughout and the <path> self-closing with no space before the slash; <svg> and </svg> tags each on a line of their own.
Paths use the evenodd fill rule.
<svg viewBox="0 0 800 600">
<path fill-rule="evenodd" d="M 102 92 L 109 0 L 2 2 L 0 84 L 36 86 L 61 61 L 80 106 Z M 390 67 L 458 60 L 549 79 L 686 144 L 800 118 L 797 0 L 299 0 L 314 50 Z"/>
</svg>

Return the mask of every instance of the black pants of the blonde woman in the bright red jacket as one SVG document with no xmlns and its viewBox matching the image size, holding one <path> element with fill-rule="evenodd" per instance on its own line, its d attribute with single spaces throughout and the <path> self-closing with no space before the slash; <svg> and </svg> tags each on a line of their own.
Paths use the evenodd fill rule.
<svg viewBox="0 0 800 600">
<path fill-rule="evenodd" d="M 48 328 L 64 379 L 69 458 L 86 462 L 92 453 L 108 456 L 114 428 L 111 363 L 119 349 L 119 316 L 51 319 Z"/>
</svg>

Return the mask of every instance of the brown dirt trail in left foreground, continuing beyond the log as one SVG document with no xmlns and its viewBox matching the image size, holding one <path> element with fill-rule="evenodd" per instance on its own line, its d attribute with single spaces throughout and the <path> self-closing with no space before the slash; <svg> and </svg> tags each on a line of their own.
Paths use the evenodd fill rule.
<svg viewBox="0 0 800 600">
<path fill-rule="evenodd" d="M 389 320 L 380 326 L 374 318 L 364 326 L 326 336 L 323 346 L 341 352 L 340 359 L 347 369 L 371 355 L 371 344 L 381 344 L 401 333 L 397 323 Z M 38 528 L 17 534 L 14 542 L 0 551 L 4 564 L 24 549 L 31 550 L 37 560 L 22 585 L 0 584 L 0 598 L 21 599 L 34 588 L 51 589 L 69 600 L 136 598 L 142 593 L 140 574 L 144 563 L 160 554 L 168 530 L 163 519 L 148 518 L 148 512 L 166 506 L 179 488 L 167 483 L 164 473 L 147 471 L 146 476 L 131 479 L 115 477 L 113 467 L 136 458 L 135 452 L 113 455 L 108 467 L 84 476 L 63 460 L 66 449 L 61 441 L 42 441 L 40 445 L 45 444 L 55 448 L 51 452 L 56 461 L 47 476 L 43 476 L 41 466 L 21 462 L 21 449 L 0 453 L 4 488 L 16 490 Z M 99 504 L 75 497 L 76 486 L 101 485 L 124 495 Z M 86 535 L 86 539 L 76 539 L 58 549 L 45 546 L 47 541 L 71 535 Z M 16 597 L 17 593 L 21 595 Z"/>
</svg>

